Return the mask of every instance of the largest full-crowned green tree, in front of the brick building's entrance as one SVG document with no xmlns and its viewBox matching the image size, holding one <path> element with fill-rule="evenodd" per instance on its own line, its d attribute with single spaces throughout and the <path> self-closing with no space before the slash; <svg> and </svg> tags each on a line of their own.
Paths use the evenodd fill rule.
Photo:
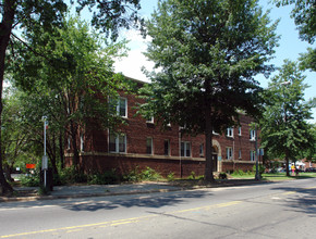
<svg viewBox="0 0 316 239">
<path fill-rule="evenodd" d="M 141 111 L 205 134 L 206 180 L 214 180 L 212 129 L 238 124 L 240 110 L 259 113 L 254 76 L 274 70 L 266 62 L 276 26 L 256 0 L 159 1 L 147 22 L 153 40 L 146 56 L 159 71 L 142 90 L 147 103 Z"/>
</svg>

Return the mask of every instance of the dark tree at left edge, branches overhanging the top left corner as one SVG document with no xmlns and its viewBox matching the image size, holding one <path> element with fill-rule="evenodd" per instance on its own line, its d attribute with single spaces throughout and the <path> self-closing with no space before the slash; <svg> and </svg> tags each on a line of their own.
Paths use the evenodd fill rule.
<svg viewBox="0 0 316 239">
<path fill-rule="evenodd" d="M 74 1 L 71 1 L 74 2 Z M 94 24 L 104 33 L 113 33 L 112 39 L 118 36 L 120 27 L 129 27 L 133 23 L 139 23 L 137 10 L 139 0 L 77 0 L 81 8 L 89 8 L 94 12 Z M 95 8 L 97 7 L 97 8 Z M 25 35 L 39 33 L 42 28 L 50 30 L 53 26 L 60 26 L 62 15 L 66 11 L 63 0 L 3 0 L 0 4 L 0 130 L 2 114 L 2 88 L 5 71 L 7 50 L 12 37 L 19 39 L 14 29 L 22 29 Z M 31 36 L 27 36 L 28 38 Z M 26 43 L 26 42 L 24 42 Z M 12 45 L 13 48 L 13 45 Z M 8 60 L 8 59 L 7 59 Z M 10 61 L 10 60 L 9 60 Z M 1 134 L 0 134 L 1 137 Z M 1 139 L 0 139 L 1 143 Z M 1 151 L 1 144 L 0 144 Z M 0 154 L 0 193 L 10 193 L 12 188 L 5 181 L 2 171 L 2 154 Z"/>
</svg>

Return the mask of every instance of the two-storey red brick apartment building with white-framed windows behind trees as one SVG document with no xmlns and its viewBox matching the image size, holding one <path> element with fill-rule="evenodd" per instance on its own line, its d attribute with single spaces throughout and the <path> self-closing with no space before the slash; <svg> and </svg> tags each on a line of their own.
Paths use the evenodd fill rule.
<svg viewBox="0 0 316 239">
<path fill-rule="evenodd" d="M 137 81 L 137 80 L 136 80 Z M 139 83 L 138 83 L 139 84 Z M 174 173 L 187 177 L 192 172 L 204 175 L 205 136 L 181 134 L 178 125 L 170 124 L 165 130 L 155 118 L 136 115 L 134 95 L 120 93 L 117 111 L 125 118 L 121 134 L 109 130 L 86 130 L 78 139 L 80 164 L 85 172 L 105 172 L 116 168 L 129 173 L 135 167 L 151 167 L 162 176 Z M 135 116 L 136 115 L 136 116 Z M 255 164 L 255 131 L 251 130 L 252 118 L 240 115 L 239 127 L 228 128 L 224 134 L 214 133 L 214 171 L 228 172 L 252 169 Z M 72 164 L 71 146 L 65 152 L 66 165 Z"/>
</svg>

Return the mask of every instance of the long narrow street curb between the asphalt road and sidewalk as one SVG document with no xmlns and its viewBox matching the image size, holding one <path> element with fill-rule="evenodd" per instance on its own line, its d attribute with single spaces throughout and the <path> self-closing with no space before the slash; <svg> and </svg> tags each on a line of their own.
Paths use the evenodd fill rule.
<svg viewBox="0 0 316 239">
<path fill-rule="evenodd" d="M 56 199 L 78 199 L 78 198 L 92 198 L 92 197 L 109 197 L 109 196 L 123 196 L 123 194 L 147 194 L 157 192 L 170 192 L 170 191 L 185 191 L 185 190 L 197 190 L 203 188 L 226 188 L 226 187 L 239 187 L 247 185 L 258 184 L 271 184 L 275 181 L 239 181 L 227 183 L 227 184 L 215 184 L 206 186 L 193 186 L 193 187 L 178 187 L 171 189 L 151 189 L 151 190 L 133 190 L 133 191 L 118 191 L 118 192 L 97 192 L 97 193 L 78 193 L 78 194 L 60 194 L 60 196 L 32 196 L 32 197 L 0 197 L 0 202 L 28 202 L 39 200 L 56 200 Z M 173 186 L 177 187 L 177 186 Z"/>
</svg>

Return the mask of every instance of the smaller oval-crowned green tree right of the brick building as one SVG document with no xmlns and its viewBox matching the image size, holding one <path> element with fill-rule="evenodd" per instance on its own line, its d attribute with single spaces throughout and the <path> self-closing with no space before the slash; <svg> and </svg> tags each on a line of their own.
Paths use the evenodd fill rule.
<svg viewBox="0 0 316 239">
<path fill-rule="evenodd" d="M 307 120 L 312 118 L 313 101 L 304 100 L 305 76 L 297 64 L 284 61 L 265 92 L 268 104 L 260 121 L 262 146 L 275 158 L 284 158 L 287 175 L 289 160 L 295 161 L 315 147 L 315 137 Z M 315 106 L 315 105 L 314 105 Z"/>
</svg>

